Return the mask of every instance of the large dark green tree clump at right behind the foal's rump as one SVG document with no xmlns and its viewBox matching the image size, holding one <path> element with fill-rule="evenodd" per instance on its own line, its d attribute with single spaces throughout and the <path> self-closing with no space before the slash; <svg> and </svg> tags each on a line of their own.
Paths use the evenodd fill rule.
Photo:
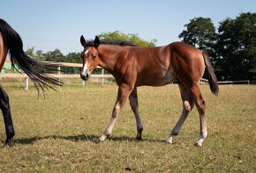
<svg viewBox="0 0 256 173">
<path fill-rule="evenodd" d="M 242 13 L 220 22 L 218 33 L 210 18 L 193 18 L 179 38 L 207 49 L 219 80 L 256 80 L 256 13 Z"/>
</svg>

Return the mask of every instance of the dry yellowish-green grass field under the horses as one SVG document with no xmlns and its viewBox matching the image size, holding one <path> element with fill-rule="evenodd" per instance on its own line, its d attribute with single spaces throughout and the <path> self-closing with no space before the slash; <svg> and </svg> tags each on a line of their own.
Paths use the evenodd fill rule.
<svg viewBox="0 0 256 173">
<path fill-rule="evenodd" d="M 13 83 L 3 83 L 11 100 L 15 147 L 0 148 L 0 172 L 256 172 L 256 86 L 220 86 L 215 97 L 207 85 L 208 137 L 202 148 L 196 109 L 169 145 L 181 101 L 177 85 L 140 87 L 143 141 L 126 103 L 109 140 L 98 137 L 109 123 L 116 84 L 64 86 L 37 99 Z M 0 119 L 0 141 L 5 140 Z"/>
</svg>

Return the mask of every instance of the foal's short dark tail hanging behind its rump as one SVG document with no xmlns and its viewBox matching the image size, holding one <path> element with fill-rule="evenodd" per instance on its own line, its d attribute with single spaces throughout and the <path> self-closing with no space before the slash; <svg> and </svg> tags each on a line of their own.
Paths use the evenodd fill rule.
<svg viewBox="0 0 256 173">
<path fill-rule="evenodd" d="M 219 86 L 218 86 L 217 77 L 215 76 L 214 68 L 211 65 L 207 51 L 203 50 L 202 54 L 205 60 L 206 74 L 208 78 L 208 83 L 210 84 L 210 89 L 212 93 L 217 96 L 219 92 Z"/>
</svg>

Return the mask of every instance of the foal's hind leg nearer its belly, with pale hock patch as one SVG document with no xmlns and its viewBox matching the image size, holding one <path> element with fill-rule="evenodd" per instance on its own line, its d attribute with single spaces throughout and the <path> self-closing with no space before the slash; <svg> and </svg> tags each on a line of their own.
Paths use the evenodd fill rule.
<svg viewBox="0 0 256 173">
<path fill-rule="evenodd" d="M 169 134 L 169 138 L 167 139 L 167 142 L 169 143 L 172 143 L 173 138 L 177 136 L 180 128 L 183 126 L 185 119 L 187 118 L 189 112 L 192 111 L 192 108 L 194 105 L 192 101 L 192 97 L 190 97 L 189 92 L 184 88 L 184 85 L 179 84 L 178 86 L 179 86 L 179 90 L 182 98 L 183 112 L 177 121 L 177 125 L 173 128 L 173 130 Z"/>
</svg>

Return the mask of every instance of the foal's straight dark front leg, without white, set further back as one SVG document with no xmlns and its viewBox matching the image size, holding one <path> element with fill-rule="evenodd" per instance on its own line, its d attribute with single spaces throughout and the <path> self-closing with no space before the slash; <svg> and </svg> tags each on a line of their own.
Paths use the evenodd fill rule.
<svg viewBox="0 0 256 173">
<path fill-rule="evenodd" d="M 138 104 L 138 96 L 137 96 L 137 88 L 132 90 L 131 95 L 129 96 L 130 105 L 132 107 L 132 112 L 135 115 L 136 126 L 137 126 L 137 140 L 142 140 L 141 133 L 143 131 L 143 126 L 141 124 L 141 120 L 139 117 L 139 104 Z"/>
</svg>

